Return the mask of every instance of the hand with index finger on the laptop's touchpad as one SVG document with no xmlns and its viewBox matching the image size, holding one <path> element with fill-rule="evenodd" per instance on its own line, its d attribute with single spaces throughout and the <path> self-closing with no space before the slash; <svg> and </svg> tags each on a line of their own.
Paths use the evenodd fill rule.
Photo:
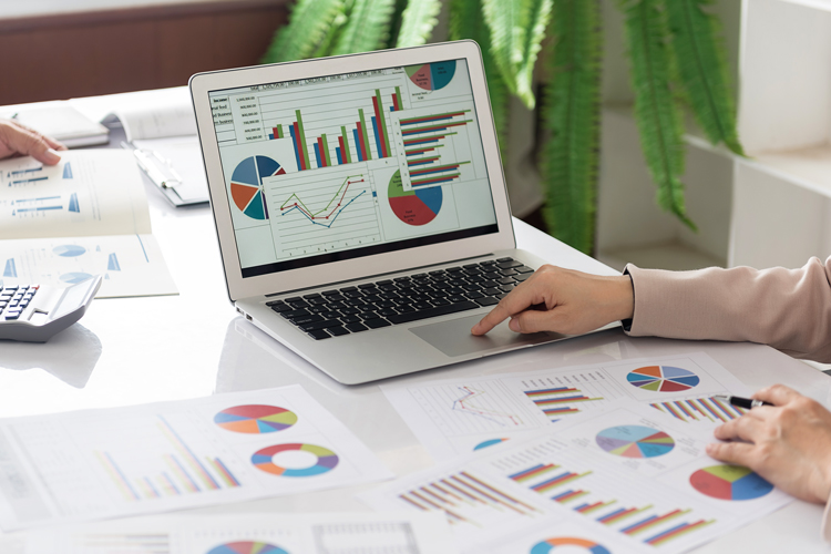
<svg viewBox="0 0 831 554">
<path fill-rule="evenodd" d="M 484 335 L 509 317 L 516 332 L 554 331 L 581 335 L 630 318 L 635 296 L 627 276 L 603 277 L 543 266 L 520 284 L 479 324 Z"/>
</svg>

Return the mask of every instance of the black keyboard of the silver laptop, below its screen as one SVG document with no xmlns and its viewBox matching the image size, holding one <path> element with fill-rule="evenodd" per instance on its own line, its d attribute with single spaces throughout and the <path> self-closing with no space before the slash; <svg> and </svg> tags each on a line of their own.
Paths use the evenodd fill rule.
<svg viewBox="0 0 831 554">
<path fill-rule="evenodd" d="M 534 269 L 513 258 L 266 302 L 316 340 L 494 306 Z"/>
</svg>

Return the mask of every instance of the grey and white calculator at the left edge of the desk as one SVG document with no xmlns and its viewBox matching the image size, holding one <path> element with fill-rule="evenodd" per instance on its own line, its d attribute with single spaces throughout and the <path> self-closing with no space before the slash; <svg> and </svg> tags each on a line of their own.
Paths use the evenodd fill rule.
<svg viewBox="0 0 831 554">
<path fill-rule="evenodd" d="M 0 339 L 45 342 L 81 319 L 102 279 L 99 275 L 65 288 L 0 281 Z"/>
</svg>

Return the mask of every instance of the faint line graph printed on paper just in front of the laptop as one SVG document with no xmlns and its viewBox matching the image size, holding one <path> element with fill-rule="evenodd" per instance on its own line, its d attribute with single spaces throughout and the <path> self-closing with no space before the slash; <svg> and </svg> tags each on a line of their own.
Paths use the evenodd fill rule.
<svg viewBox="0 0 831 554">
<path fill-rule="evenodd" d="M 511 402 L 496 381 L 424 387 L 411 393 L 445 437 L 538 427 L 538 417 Z"/>
</svg>

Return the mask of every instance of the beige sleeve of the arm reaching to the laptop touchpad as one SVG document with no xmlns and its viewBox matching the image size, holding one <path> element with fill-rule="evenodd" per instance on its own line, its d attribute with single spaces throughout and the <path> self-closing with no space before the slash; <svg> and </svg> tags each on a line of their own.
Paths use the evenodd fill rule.
<svg viewBox="0 0 831 554">
<path fill-rule="evenodd" d="M 751 341 L 831 362 L 831 257 L 800 269 L 640 269 L 632 336 Z"/>
</svg>

